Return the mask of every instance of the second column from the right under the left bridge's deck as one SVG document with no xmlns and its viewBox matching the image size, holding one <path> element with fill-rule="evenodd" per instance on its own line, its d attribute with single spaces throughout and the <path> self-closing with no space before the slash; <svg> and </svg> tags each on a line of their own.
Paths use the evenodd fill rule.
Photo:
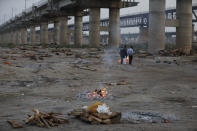
<svg viewBox="0 0 197 131">
<path fill-rule="evenodd" d="M 100 46 L 100 8 L 90 9 L 89 44 L 93 47 Z"/>
</svg>

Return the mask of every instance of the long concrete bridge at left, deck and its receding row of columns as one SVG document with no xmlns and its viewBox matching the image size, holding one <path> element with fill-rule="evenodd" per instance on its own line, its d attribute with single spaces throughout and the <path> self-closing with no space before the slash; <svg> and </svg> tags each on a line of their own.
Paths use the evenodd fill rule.
<svg viewBox="0 0 197 131">
<path fill-rule="evenodd" d="M 0 27 L 3 43 L 27 43 L 27 28 L 31 30 L 31 43 L 35 43 L 35 27 L 40 26 L 40 43 L 48 43 L 48 24 L 54 23 L 54 41 L 69 44 L 68 16 L 75 17 L 74 42 L 82 45 L 82 17 L 90 15 L 90 43 L 99 46 L 100 8 L 110 10 L 109 40 L 114 46 L 120 39 L 120 8 L 136 6 L 133 0 L 45 0 L 26 10 Z"/>
</svg>

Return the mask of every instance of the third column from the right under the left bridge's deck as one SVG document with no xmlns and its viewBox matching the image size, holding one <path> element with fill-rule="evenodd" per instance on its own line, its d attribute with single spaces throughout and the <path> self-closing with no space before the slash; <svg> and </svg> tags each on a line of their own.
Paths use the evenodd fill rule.
<svg viewBox="0 0 197 131">
<path fill-rule="evenodd" d="M 83 34 L 82 34 L 82 14 L 81 12 L 77 12 L 75 15 L 75 32 L 74 32 L 74 42 L 76 46 L 81 46 L 83 42 Z"/>
</svg>

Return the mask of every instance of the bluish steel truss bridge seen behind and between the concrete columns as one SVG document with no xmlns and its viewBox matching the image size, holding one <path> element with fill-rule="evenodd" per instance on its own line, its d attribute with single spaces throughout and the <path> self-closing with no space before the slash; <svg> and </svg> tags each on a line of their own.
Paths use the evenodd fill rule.
<svg viewBox="0 0 197 131">
<path fill-rule="evenodd" d="M 197 22 L 197 4 L 192 5 L 192 22 Z M 171 20 L 176 20 L 176 8 L 168 8 L 165 11 L 166 14 L 166 26 L 167 27 L 176 27 L 177 23 L 172 22 Z M 101 19 L 100 26 L 102 31 L 107 31 L 109 26 L 109 18 Z M 136 14 L 127 14 L 120 16 L 120 28 L 128 27 L 148 27 L 149 26 L 149 12 L 140 12 Z M 74 29 L 74 24 L 68 25 L 69 29 Z M 89 31 L 89 21 L 83 22 L 83 31 Z"/>
</svg>

